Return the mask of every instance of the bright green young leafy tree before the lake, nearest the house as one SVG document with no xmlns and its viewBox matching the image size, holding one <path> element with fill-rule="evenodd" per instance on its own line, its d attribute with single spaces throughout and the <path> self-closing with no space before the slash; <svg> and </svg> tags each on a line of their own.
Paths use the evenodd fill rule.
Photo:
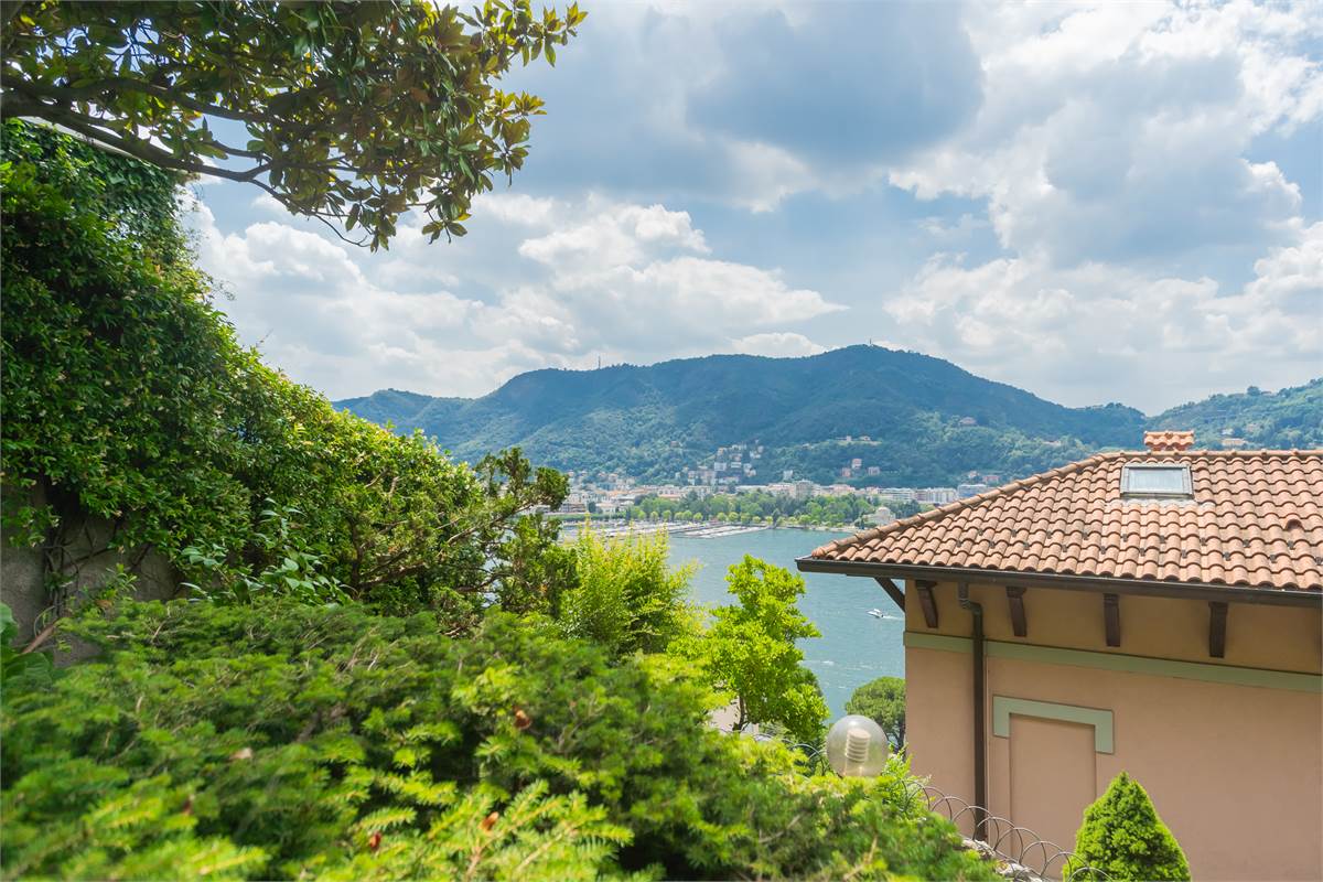
<svg viewBox="0 0 1323 882">
<path fill-rule="evenodd" d="M 740 603 L 713 610 L 712 625 L 689 652 L 713 684 L 734 696 L 736 731 L 774 723 L 802 742 L 816 742 L 827 703 L 795 644 L 822 636 L 795 606 L 804 581 L 747 554 L 726 581 Z"/>
</svg>

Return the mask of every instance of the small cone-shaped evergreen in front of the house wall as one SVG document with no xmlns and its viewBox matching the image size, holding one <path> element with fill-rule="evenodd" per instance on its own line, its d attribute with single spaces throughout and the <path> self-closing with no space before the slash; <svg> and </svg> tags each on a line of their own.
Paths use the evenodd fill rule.
<svg viewBox="0 0 1323 882">
<path fill-rule="evenodd" d="M 1109 879 L 1188 879 L 1189 863 L 1148 793 L 1126 772 L 1085 809 L 1066 878 L 1089 866 Z"/>
</svg>

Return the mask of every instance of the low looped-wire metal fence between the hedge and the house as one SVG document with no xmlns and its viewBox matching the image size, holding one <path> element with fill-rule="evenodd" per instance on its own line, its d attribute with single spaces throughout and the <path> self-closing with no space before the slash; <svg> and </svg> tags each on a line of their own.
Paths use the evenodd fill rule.
<svg viewBox="0 0 1323 882">
<path fill-rule="evenodd" d="M 798 751 L 804 758 L 810 774 L 831 771 L 822 747 L 794 743 L 777 735 L 755 734 L 753 738 L 779 741 Z M 905 779 L 898 784 L 901 789 L 889 793 L 889 797 L 905 805 L 906 811 L 923 807 L 947 819 L 957 828 L 971 830 L 976 841 L 975 848 L 1011 865 L 1008 874 L 1012 878 L 1028 878 L 1028 874 L 1061 882 L 1109 882 L 1111 878 L 1097 867 L 1076 861 L 1073 852 L 1044 840 L 1029 828 L 994 815 L 959 796 L 949 796 L 931 784 L 916 779 Z"/>
</svg>

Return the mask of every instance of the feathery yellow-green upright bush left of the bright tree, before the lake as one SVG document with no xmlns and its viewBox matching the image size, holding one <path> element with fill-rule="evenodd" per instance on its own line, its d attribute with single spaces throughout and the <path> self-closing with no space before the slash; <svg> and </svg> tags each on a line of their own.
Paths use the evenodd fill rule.
<svg viewBox="0 0 1323 882">
<path fill-rule="evenodd" d="M 667 565 L 667 537 L 603 538 L 582 529 L 574 545 L 577 584 L 564 598 L 561 621 L 618 655 L 662 652 L 695 623 L 688 567 Z"/>
</svg>

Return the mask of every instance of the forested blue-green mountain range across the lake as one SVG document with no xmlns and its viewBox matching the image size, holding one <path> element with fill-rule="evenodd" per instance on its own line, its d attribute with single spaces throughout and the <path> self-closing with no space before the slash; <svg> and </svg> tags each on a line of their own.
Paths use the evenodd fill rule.
<svg viewBox="0 0 1323 882">
<path fill-rule="evenodd" d="M 722 475 L 736 469 L 742 483 L 758 484 L 787 471 L 898 487 L 1011 480 L 1098 450 L 1139 447 L 1144 428 L 1192 428 L 1200 447 L 1240 443 L 1228 438 L 1250 447 L 1323 444 L 1323 380 L 1146 417 L 1119 403 L 1065 407 L 941 358 L 871 345 L 803 358 L 545 369 L 482 398 L 386 389 L 335 405 L 397 431 L 421 428 L 462 459 L 517 444 L 533 461 L 566 471 L 681 483 L 717 463 L 726 463 Z M 734 444 L 762 451 L 738 464 L 717 455 Z"/>
</svg>

